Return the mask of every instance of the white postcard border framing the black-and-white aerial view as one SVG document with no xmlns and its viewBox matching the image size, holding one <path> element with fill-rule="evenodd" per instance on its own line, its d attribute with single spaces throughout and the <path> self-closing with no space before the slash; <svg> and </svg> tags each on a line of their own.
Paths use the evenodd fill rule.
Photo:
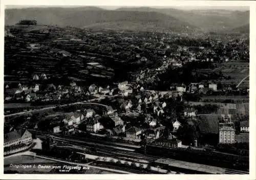
<svg viewBox="0 0 256 180">
<path fill-rule="evenodd" d="M 230 7 L 230 6 L 249 6 L 250 7 L 250 174 L 249 175 L 117 175 L 117 174 L 3 174 L 4 166 L 0 166 L 1 179 L 256 179 L 255 175 L 255 52 L 256 52 L 256 3 L 255 1 L 172 1 L 172 0 L 130 0 L 130 1 L 117 1 L 117 0 L 93 0 L 93 1 L 83 1 L 83 0 L 2 0 L 1 1 L 1 65 L 0 72 L 4 72 L 4 9 L 6 5 L 11 5 L 13 7 L 17 6 L 190 6 L 190 7 Z M 1 92 L 3 91 L 4 84 L 4 74 L 1 75 Z M 1 93 L 3 96 L 3 93 Z M 1 105 L 3 106 L 4 97 L 1 97 Z M 1 124 L 0 124 L 0 143 L 3 144 L 4 140 L 4 108 L 1 108 Z M 0 146 L 0 152 L 3 154 L 4 148 Z M 4 156 L 0 155 L 0 162 L 3 162 Z"/>
</svg>

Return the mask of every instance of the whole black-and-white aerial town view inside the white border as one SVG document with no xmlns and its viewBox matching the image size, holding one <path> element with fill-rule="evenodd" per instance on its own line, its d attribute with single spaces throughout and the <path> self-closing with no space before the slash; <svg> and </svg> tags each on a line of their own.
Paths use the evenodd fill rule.
<svg viewBox="0 0 256 180">
<path fill-rule="evenodd" d="M 249 7 L 5 7 L 5 174 L 249 174 Z"/>
</svg>

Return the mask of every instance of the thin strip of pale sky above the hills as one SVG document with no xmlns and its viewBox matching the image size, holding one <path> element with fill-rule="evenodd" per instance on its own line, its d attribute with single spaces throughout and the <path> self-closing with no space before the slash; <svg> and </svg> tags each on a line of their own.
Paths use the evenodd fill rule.
<svg viewBox="0 0 256 180">
<path fill-rule="evenodd" d="M 20 6 L 20 5 L 12 5 L 12 6 L 6 6 L 7 9 L 12 9 L 12 8 L 16 8 L 16 9 L 21 9 L 21 8 L 30 8 L 30 7 L 51 7 L 51 6 Z M 74 6 L 55 6 L 55 7 L 74 7 Z M 75 6 L 75 7 L 79 7 L 79 6 Z M 81 6 L 80 6 L 81 7 Z M 106 10 L 115 10 L 121 7 L 131 7 L 131 6 L 97 6 L 99 8 L 102 9 L 106 9 Z M 138 7 L 138 6 L 134 6 L 134 7 Z M 142 7 L 142 6 L 141 6 Z M 147 7 L 147 6 L 144 6 Z M 249 7 L 248 6 L 208 6 L 208 7 L 203 7 L 203 6 L 175 6 L 175 7 L 171 7 L 171 6 L 148 6 L 151 8 L 159 8 L 159 9 L 163 9 L 163 8 L 175 8 L 175 9 L 181 9 L 181 10 L 207 10 L 207 9 L 222 9 L 222 10 L 232 10 L 232 11 L 248 11 Z"/>
</svg>

